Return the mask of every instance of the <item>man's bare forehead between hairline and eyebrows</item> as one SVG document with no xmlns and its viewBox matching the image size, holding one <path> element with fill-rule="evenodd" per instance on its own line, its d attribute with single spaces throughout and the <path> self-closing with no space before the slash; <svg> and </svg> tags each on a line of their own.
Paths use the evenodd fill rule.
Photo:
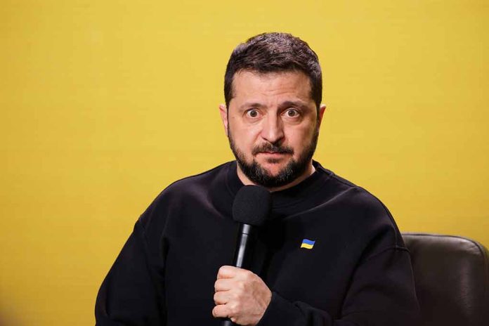
<svg viewBox="0 0 489 326">
<path fill-rule="evenodd" d="M 300 71 L 260 73 L 249 70 L 237 72 L 233 78 L 233 100 L 302 100 L 311 98 L 311 80 Z"/>
</svg>

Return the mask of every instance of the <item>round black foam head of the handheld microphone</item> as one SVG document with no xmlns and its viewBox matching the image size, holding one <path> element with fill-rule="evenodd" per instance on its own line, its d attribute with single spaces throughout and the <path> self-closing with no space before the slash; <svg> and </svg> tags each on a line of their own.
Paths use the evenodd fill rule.
<svg viewBox="0 0 489 326">
<path fill-rule="evenodd" d="M 260 185 L 244 185 L 233 202 L 233 219 L 251 226 L 261 226 L 272 207 L 272 195 Z"/>
</svg>

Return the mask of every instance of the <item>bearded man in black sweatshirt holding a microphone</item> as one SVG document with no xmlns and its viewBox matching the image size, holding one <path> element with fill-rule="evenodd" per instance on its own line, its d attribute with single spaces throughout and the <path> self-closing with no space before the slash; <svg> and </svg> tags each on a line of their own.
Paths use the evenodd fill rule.
<svg viewBox="0 0 489 326">
<path fill-rule="evenodd" d="M 415 325 L 410 256 L 386 207 L 312 160 L 318 57 L 290 34 L 233 51 L 219 110 L 236 157 L 165 189 L 105 278 L 97 325 Z M 250 270 L 229 266 L 243 185 L 273 207 Z"/>
</svg>

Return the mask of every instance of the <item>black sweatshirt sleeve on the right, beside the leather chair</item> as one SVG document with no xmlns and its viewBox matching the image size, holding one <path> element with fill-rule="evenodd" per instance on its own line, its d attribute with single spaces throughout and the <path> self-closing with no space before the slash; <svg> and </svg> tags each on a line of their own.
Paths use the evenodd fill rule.
<svg viewBox="0 0 489 326">
<path fill-rule="evenodd" d="M 419 307 L 412 275 L 408 273 L 409 259 L 405 248 L 393 247 L 361 262 L 337 319 L 326 311 L 304 302 L 288 301 L 273 292 L 257 326 L 415 326 L 419 322 Z"/>
</svg>

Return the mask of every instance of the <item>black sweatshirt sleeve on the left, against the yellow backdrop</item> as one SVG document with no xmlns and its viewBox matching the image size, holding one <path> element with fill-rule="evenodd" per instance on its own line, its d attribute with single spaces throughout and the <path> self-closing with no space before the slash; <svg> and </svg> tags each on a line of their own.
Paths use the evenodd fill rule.
<svg viewBox="0 0 489 326">
<path fill-rule="evenodd" d="M 155 259 L 136 222 L 98 292 L 96 325 L 165 325 L 162 259 Z"/>
</svg>

